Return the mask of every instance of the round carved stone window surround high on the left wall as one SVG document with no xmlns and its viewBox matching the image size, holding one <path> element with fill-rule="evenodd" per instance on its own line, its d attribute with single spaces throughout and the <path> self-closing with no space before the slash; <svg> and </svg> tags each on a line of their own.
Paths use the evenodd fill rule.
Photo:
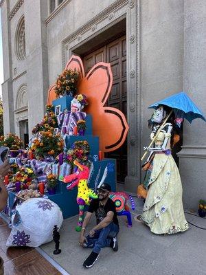
<svg viewBox="0 0 206 275">
<path fill-rule="evenodd" d="M 15 38 L 15 50 L 16 56 L 19 60 L 25 59 L 25 21 L 24 17 L 21 17 L 17 28 Z"/>
</svg>

